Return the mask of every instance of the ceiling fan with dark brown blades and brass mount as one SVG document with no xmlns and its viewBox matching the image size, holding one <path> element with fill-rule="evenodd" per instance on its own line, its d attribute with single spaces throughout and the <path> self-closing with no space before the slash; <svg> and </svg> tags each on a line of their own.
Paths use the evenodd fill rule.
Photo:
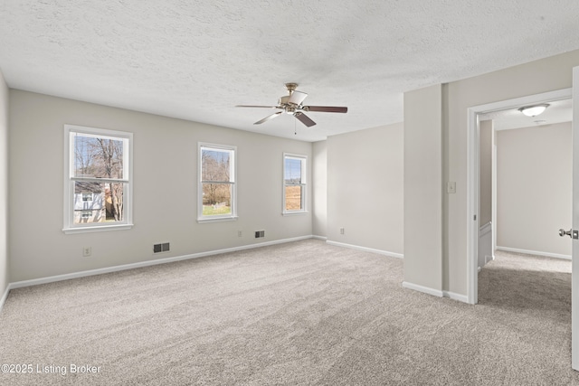
<svg viewBox="0 0 579 386">
<path fill-rule="evenodd" d="M 347 108 L 341 108 L 336 106 L 304 106 L 302 103 L 308 94 L 302 91 L 297 91 L 298 83 L 286 83 L 286 89 L 288 89 L 289 95 L 280 97 L 278 104 L 276 106 L 253 106 L 253 105 L 237 105 L 237 108 L 280 108 L 281 111 L 271 114 L 266 118 L 258 120 L 253 125 L 260 125 L 272 118 L 279 117 L 281 114 L 291 114 L 295 118 L 306 125 L 307 127 L 312 127 L 316 125 L 316 122 L 308 118 L 304 111 L 321 111 L 327 113 L 346 113 Z"/>
</svg>

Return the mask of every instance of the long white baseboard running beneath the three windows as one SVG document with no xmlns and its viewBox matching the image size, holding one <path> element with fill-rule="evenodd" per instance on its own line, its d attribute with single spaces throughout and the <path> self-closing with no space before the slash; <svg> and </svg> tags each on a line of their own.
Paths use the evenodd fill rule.
<svg viewBox="0 0 579 386">
<path fill-rule="evenodd" d="M 68 274 L 64 274 L 64 275 L 51 276 L 51 277 L 47 277 L 47 278 L 33 278 L 31 280 L 16 281 L 16 282 L 10 283 L 8 285 L 8 288 L 6 289 L 5 297 L 8 296 L 8 292 L 10 291 L 10 289 L 14 289 L 14 288 L 38 286 L 40 284 L 53 283 L 53 282 L 62 281 L 62 280 L 70 280 L 71 278 L 85 278 L 88 276 L 102 275 L 105 273 L 118 272 L 121 270 L 150 267 L 150 266 L 156 266 L 158 264 L 173 263 L 176 261 L 182 261 L 182 260 L 188 260 L 188 259 L 204 258 L 205 256 L 219 255 L 222 253 L 235 252 L 235 251 L 244 250 L 244 249 L 254 249 L 254 248 L 267 247 L 270 245 L 283 244 L 286 242 L 307 240 L 307 239 L 312 239 L 312 238 L 313 238 L 313 236 L 311 236 L 311 235 L 310 236 L 301 236 L 301 237 L 296 237 L 296 238 L 292 238 L 292 239 L 274 240 L 274 241 L 261 242 L 259 244 L 244 245 L 241 247 L 233 247 L 233 248 L 226 248 L 226 249 L 211 250 L 211 251 L 207 251 L 207 252 L 193 253 L 190 255 L 176 256 L 173 258 L 147 260 L 147 261 L 140 261 L 138 263 L 124 264 L 124 265 L 120 265 L 120 266 L 90 269 L 90 270 L 85 270 L 85 271 L 81 271 L 81 272 L 73 272 L 73 273 L 68 273 Z M 3 297 L 3 302 L 2 302 L 2 304 L 0 304 L 0 306 L 4 305 L 5 297 Z"/>
</svg>

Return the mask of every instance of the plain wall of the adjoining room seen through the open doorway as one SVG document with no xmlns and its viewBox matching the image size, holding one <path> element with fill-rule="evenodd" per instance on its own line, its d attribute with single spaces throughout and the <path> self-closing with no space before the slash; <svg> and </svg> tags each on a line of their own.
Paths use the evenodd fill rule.
<svg viewBox="0 0 579 386">
<path fill-rule="evenodd" d="M 571 123 L 497 132 L 497 246 L 571 255 Z"/>
</svg>

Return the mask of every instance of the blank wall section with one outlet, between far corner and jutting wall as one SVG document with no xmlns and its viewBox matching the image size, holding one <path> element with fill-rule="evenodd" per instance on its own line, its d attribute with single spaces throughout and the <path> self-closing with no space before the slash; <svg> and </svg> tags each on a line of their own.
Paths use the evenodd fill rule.
<svg viewBox="0 0 579 386">
<path fill-rule="evenodd" d="M 403 135 L 400 123 L 327 138 L 328 241 L 403 254 Z"/>
</svg>

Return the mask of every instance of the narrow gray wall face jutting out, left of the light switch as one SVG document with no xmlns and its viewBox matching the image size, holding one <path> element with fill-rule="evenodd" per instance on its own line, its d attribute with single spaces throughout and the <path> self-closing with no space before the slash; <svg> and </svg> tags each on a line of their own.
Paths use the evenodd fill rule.
<svg viewBox="0 0 579 386">
<path fill-rule="evenodd" d="M 443 274 L 442 95 L 441 85 L 404 94 L 404 282 L 434 291 Z"/>
</svg>

